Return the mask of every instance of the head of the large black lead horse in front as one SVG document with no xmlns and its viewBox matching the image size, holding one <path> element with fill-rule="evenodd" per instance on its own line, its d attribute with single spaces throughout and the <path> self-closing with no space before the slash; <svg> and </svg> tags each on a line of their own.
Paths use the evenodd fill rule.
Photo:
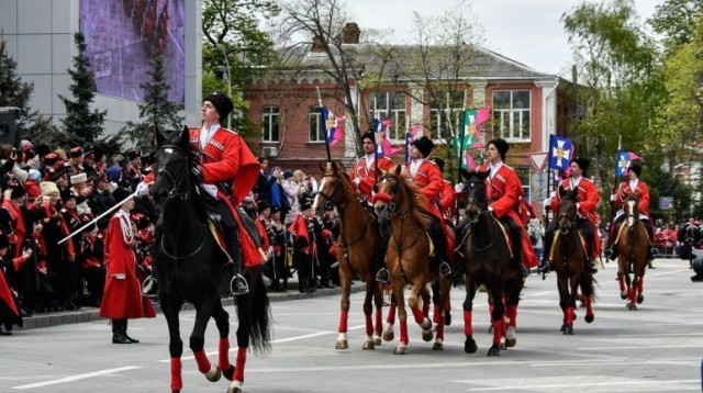
<svg viewBox="0 0 703 393">
<path fill-rule="evenodd" d="M 154 160 L 156 179 L 149 191 L 154 202 L 159 206 L 174 198 L 188 199 L 193 180 L 199 176 L 199 159 L 190 153 L 188 127 L 168 134 L 172 135 L 170 139 L 160 133 L 160 137 L 157 138 L 158 150 Z"/>
</svg>

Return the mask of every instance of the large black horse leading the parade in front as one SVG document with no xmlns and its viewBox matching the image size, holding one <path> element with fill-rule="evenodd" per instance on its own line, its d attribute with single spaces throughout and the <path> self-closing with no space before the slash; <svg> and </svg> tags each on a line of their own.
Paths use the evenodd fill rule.
<svg viewBox="0 0 703 393">
<path fill-rule="evenodd" d="M 183 343 L 180 339 L 178 313 L 185 302 L 196 307 L 190 349 L 194 353 L 198 370 L 211 382 L 224 374 L 232 381 L 227 392 L 242 392 L 249 339 L 256 353 L 270 349 L 271 316 L 261 267 L 246 269 L 244 277 L 249 293 L 235 297 L 239 321 L 235 368 L 228 359 L 230 315 L 221 301 L 228 289 L 232 271 L 226 266 L 227 257 L 209 228 L 205 204 L 198 187 L 200 160 L 190 147 L 189 130 L 186 127 L 174 134 L 172 139 L 167 142 L 157 133 L 156 180 L 150 191 L 155 203 L 161 209 L 153 252 L 160 287 L 158 297 L 170 337 L 171 392 L 180 392 L 182 388 L 180 358 Z M 211 366 L 203 350 L 204 333 L 211 316 L 220 332 L 217 366 Z"/>
</svg>

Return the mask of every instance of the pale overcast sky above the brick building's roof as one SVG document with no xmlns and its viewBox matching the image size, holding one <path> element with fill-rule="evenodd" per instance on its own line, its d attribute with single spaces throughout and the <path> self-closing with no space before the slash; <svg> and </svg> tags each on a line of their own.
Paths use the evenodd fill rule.
<svg viewBox="0 0 703 393">
<path fill-rule="evenodd" d="M 582 1 L 577 0 L 471 0 L 471 10 L 483 26 L 482 46 L 538 71 L 570 75 L 571 49 L 559 21 Z M 641 23 L 665 0 L 635 0 Z M 390 29 L 393 43 L 412 41 L 413 11 L 442 15 L 456 0 L 347 0 L 350 20 L 359 29 Z"/>
</svg>

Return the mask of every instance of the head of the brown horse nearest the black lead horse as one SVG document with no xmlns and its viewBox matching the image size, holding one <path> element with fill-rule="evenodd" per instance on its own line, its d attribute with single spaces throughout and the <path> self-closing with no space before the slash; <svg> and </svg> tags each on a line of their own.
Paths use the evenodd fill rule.
<svg viewBox="0 0 703 393">
<path fill-rule="evenodd" d="M 317 162 L 317 166 L 322 171 L 322 178 L 312 209 L 316 214 L 322 215 L 323 209 L 328 209 L 330 204 L 342 207 L 355 196 L 355 193 L 350 189 L 352 183 L 343 167 L 334 161 Z"/>
</svg>

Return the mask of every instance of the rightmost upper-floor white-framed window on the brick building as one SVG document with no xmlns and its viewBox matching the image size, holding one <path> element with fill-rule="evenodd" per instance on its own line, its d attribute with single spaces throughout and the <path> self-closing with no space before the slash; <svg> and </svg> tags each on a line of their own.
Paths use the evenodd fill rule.
<svg viewBox="0 0 703 393">
<path fill-rule="evenodd" d="M 529 141 L 529 90 L 493 91 L 493 132 L 506 141 Z"/>
</svg>

